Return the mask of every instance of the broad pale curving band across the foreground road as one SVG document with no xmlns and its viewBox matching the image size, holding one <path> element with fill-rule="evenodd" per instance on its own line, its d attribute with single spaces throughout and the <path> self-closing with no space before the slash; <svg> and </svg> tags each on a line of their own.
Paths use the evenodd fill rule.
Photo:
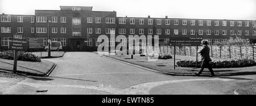
<svg viewBox="0 0 256 106">
<path fill-rule="evenodd" d="M 192 81 L 204 81 L 204 80 L 221 80 L 230 81 L 234 79 L 222 79 L 222 78 L 212 78 L 212 79 L 181 79 L 181 80 L 165 80 L 160 82 L 149 82 L 138 84 L 137 86 L 132 86 L 126 89 L 113 88 L 111 86 L 104 87 L 102 84 L 100 86 L 83 86 L 83 85 L 56 85 L 56 84 L 42 84 L 42 83 L 28 83 L 28 82 L 18 82 L 17 84 L 24 84 L 31 87 L 69 87 L 69 88 L 86 88 L 98 91 L 109 92 L 114 95 L 150 95 L 150 90 L 154 87 L 162 86 L 164 84 L 170 83 L 181 83 L 181 82 L 192 82 Z"/>
</svg>

